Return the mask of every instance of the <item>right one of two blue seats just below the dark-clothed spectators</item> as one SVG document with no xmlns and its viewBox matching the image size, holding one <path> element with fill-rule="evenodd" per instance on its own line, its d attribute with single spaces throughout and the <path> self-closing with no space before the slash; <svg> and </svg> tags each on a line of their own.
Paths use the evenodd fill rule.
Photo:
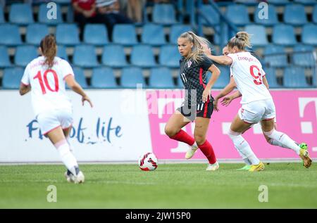
<svg viewBox="0 0 317 223">
<path fill-rule="evenodd" d="M 113 43 L 132 46 L 137 44 L 137 33 L 135 25 L 132 24 L 117 24 L 113 27 L 112 34 Z"/>
</svg>

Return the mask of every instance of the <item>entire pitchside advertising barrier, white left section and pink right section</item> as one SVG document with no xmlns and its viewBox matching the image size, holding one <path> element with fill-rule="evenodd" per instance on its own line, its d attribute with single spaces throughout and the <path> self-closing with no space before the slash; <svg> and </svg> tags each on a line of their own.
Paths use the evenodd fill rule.
<svg viewBox="0 0 317 223">
<path fill-rule="evenodd" d="M 153 151 L 159 159 L 184 159 L 187 145 L 164 134 L 168 117 L 181 105 L 184 91 L 89 89 L 87 93 L 94 108 L 88 104 L 82 106 L 80 96 L 68 91 L 74 114 L 70 141 L 79 161 L 133 161 L 148 151 Z M 218 93 L 212 91 L 213 96 Z M 271 90 L 271 94 L 278 130 L 296 141 L 306 141 L 311 156 L 317 158 L 317 90 Z M 1 90 L 0 101 L 0 162 L 59 162 L 54 146 L 39 131 L 30 94 L 22 97 L 18 91 Z M 207 139 L 219 159 L 240 159 L 227 135 L 240 100 L 219 107 L 220 111 L 213 112 L 211 117 Z M 194 123 L 184 130 L 193 135 Z M 293 151 L 267 144 L 260 125 L 249 129 L 244 138 L 259 158 L 298 158 Z M 197 151 L 194 158 L 201 160 L 204 155 Z"/>
</svg>

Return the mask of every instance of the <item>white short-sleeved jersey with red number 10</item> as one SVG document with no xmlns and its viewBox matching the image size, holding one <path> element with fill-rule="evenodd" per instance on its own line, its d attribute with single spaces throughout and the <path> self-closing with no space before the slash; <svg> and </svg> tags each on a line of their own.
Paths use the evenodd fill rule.
<svg viewBox="0 0 317 223">
<path fill-rule="evenodd" d="M 44 56 L 32 60 L 25 68 L 22 84 L 31 85 L 32 106 L 35 115 L 49 110 L 72 110 L 70 98 L 66 95 L 65 77 L 74 75 L 70 64 L 61 58 L 54 58 L 54 65 L 48 68 Z"/>
</svg>

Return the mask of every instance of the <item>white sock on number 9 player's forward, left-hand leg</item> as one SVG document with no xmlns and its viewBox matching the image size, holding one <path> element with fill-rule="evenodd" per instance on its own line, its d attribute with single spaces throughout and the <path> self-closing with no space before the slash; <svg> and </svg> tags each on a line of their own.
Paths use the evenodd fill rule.
<svg viewBox="0 0 317 223">
<path fill-rule="evenodd" d="M 235 144 L 237 151 L 240 153 L 240 155 L 242 155 L 242 158 L 247 158 L 251 165 L 259 165 L 260 160 L 256 157 L 248 142 L 245 141 L 239 132 L 232 132 L 230 130 L 228 135 L 232 139 L 233 144 Z"/>
</svg>

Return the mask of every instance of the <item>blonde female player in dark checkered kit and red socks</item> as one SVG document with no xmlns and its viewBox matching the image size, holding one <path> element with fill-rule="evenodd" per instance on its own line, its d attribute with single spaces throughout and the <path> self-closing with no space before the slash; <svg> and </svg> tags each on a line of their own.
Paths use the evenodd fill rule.
<svg viewBox="0 0 317 223">
<path fill-rule="evenodd" d="M 185 101 L 170 117 L 165 127 L 170 139 L 185 142 L 190 146 L 185 158 L 192 158 L 198 148 L 206 155 L 209 166 L 206 170 L 217 170 L 219 165 L 213 147 L 206 140 L 209 120 L 213 113 L 213 98 L 211 87 L 220 75 L 220 70 L 204 55 L 204 44 L 208 40 L 197 36 L 194 32 L 184 32 L 178 38 L 180 60 L 180 77 L 185 86 Z M 212 72 L 211 79 L 206 84 L 206 71 Z M 182 131 L 189 122 L 195 120 L 194 139 Z"/>
</svg>

